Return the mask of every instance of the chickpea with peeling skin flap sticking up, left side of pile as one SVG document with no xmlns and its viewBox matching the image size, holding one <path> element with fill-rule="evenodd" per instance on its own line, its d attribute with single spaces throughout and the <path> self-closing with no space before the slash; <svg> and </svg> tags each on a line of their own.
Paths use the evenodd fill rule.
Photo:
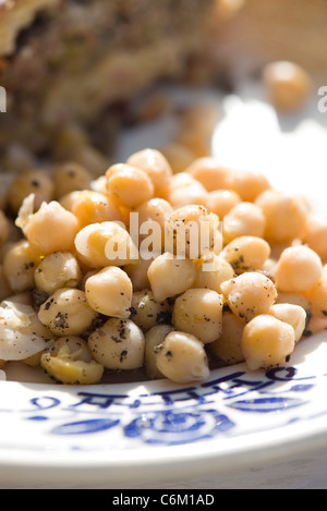
<svg viewBox="0 0 327 511">
<path fill-rule="evenodd" d="M 31 215 L 24 229 L 32 252 L 45 256 L 52 252 L 72 252 L 78 231 L 76 217 L 56 200 L 43 203 Z"/>
</svg>

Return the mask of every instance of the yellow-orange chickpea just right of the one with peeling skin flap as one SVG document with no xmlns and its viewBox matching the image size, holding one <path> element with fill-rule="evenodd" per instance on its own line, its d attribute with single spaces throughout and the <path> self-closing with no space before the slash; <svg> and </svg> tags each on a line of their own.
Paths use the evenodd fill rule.
<svg viewBox="0 0 327 511">
<path fill-rule="evenodd" d="M 80 229 L 90 223 L 122 220 L 122 214 L 113 199 L 100 192 L 75 191 L 71 199 L 68 209 L 77 218 Z"/>
</svg>

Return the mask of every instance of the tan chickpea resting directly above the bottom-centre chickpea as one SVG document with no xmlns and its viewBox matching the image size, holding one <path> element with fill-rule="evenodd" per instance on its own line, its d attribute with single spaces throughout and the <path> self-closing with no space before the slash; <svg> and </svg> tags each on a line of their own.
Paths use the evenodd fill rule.
<svg viewBox="0 0 327 511">
<path fill-rule="evenodd" d="M 177 297 L 172 323 L 204 344 L 221 334 L 222 297 L 210 289 L 189 289 Z"/>
</svg>

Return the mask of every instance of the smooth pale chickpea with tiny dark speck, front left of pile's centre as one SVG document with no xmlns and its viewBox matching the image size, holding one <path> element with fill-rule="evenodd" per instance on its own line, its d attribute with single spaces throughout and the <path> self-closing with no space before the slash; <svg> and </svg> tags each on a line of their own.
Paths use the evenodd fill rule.
<svg viewBox="0 0 327 511">
<path fill-rule="evenodd" d="M 85 296 L 89 306 L 107 316 L 128 317 L 132 306 L 132 282 L 118 266 L 108 266 L 85 281 Z"/>
</svg>

